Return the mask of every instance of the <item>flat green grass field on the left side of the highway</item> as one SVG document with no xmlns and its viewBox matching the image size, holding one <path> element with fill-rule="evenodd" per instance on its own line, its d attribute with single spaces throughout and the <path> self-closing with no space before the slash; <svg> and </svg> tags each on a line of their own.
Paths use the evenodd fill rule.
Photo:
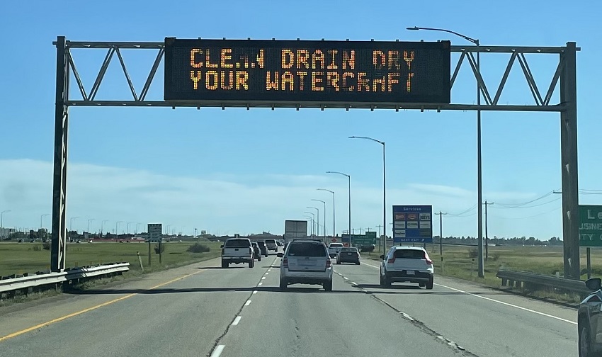
<svg viewBox="0 0 602 357">
<path fill-rule="evenodd" d="M 140 273 L 140 262 L 136 252 L 140 252 L 144 272 L 163 270 L 174 266 L 183 266 L 220 256 L 219 242 L 201 242 L 210 246 L 206 253 L 186 251 L 193 242 L 164 244 L 165 251 L 159 264 L 159 254 L 155 254 L 151 244 L 151 265 L 148 265 L 149 250 L 146 243 L 81 243 L 67 244 L 67 267 L 86 266 L 98 263 L 127 261 L 132 272 Z M 35 250 L 39 246 L 40 250 Z M 42 250 L 40 243 L 0 243 L 0 276 L 16 273 L 43 271 L 50 268 L 50 251 Z"/>
</svg>

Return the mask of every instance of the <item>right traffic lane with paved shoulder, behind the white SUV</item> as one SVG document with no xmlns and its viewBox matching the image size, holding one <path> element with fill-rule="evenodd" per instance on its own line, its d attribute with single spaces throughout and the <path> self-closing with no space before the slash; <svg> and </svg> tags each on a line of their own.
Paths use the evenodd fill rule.
<svg viewBox="0 0 602 357">
<path fill-rule="evenodd" d="M 572 320 L 543 314 L 530 304 L 535 309 L 523 310 L 521 305 L 504 302 L 508 296 L 503 292 L 466 286 L 462 290 L 455 288 L 453 280 L 437 276 L 433 290 L 410 283 L 381 288 L 379 270 L 368 264 L 337 266 L 336 271 L 350 285 L 356 283 L 358 290 L 373 294 L 477 356 L 571 356 L 577 352 L 577 327 Z"/>
</svg>

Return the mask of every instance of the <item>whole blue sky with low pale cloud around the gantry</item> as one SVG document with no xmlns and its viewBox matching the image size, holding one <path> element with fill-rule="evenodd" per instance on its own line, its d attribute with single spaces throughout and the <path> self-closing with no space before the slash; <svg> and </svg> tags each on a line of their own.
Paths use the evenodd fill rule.
<svg viewBox="0 0 602 357">
<path fill-rule="evenodd" d="M 602 58 L 597 18 L 602 5 L 506 1 L 305 1 L 300 10 L 277 1 L 6 1 L 0 30 L 0 210 L 9 227 L 38 227 L 51 212 L 55 57 L 52 41 L 162 41 L 178 38 L 315 40 L 452 40 L 453 35 L 407 31 L 407 26 L 449 28 L 482 45 L 561 46 L 576 41 L 579 185 L 602 190 L 596 111 Z M 35 5 L 32 5 L 35 4 Z M 401 6 L 403 4 L 403 6 Z M 487 14 L 495 13 L 493 15 Z M 87 88 L 104 57 L 101 50 L 74 51 Z M 124 51 L 140 91 L 154 52 Z M 455 64 L 456 57 L 453 57 Z M 508 57 L 483 55 L 489 91 L 499 83 Z M 540 90 L 557 64 L 553 56 L 527 57 Z M 162 67 L 161 67 L 162 69 Z M 73 82 L 73 81 L 72 81 Z M 114 61 L 98 99 L 127 94 Z M 77 96 L 76 87 L 72 94 Z M 149 93 L 162 98 L 162 70 Z M 475 102 L 475 81 L 463 67 L 453 103 Z M 558 102 L 558 91 L 552 102 Z M 500 103 L 533 103 L 518 64 Z M 477 233 L 476 114 L 419 111 L 341 111 L 227 108 L 71 108 L 67 217 L 74 229 L 91 230 L 115 222 L 163 222 L 176 232 L 193 228 L 212 233 L 283 232 L 286 219 L 303 219 L 311 198 L 325 200 L 331 231 L 331 196 L 336 191 L 336 230 L 347 226 L 346 179 L 352 176 L 353 227 L 382 223 L 380 146 L 349 140 L 375 137 L 387 143 L 387 220 L 390 206 L 432 204 L 445 217 L 444 234 Z M 560 115 L 483 113 L 484 199 L 490 236 L 560 236 L 560 195 L 520 208 L 560 188 Z M 602 192 L 602 191 L 599 191 Z M 600 203 L 583 195 L 581 203 Z M 322 203 L 319 203 L 322 210 Z M 322 212 L 320 213 L 322 215 Z M 321 217 L 322 218 L 322 217 Z M 50 225 L 45 218 L 44 225 Z M 132 231 L 133 231 L 132 224 Z M 114 228 L 113 228 L 114 229 Z M 125 229 L 125 223 L 119 230 Z M 107 228 L 105 228 L 107 230 Z M 390 227 L 387 230 L 390 232 Z M 438 228 L 434 229 L 438 234 Z M 389 233 L 390 234 L 390 233 Z"/>
</svg>

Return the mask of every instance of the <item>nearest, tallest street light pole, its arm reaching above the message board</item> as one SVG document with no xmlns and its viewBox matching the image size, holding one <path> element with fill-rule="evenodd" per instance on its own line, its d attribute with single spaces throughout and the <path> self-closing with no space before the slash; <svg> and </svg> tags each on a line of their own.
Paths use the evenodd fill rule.
<svg viewBox="0 0 602 357">
<path fill-rule="evenodd" d="M 474 43 L 477 46 L 477 237 L 479 244 L 479 278 L 484 278 L 484 254 L 483 254 L 483 191 L 482 191 L 482 165 L 481 165 L 481 51 L 479 50 L 480 42 L 476 38 L 470 38 L 452 30 L 446 30 L 445 28 L 421 28 L 414 26 L 413 28 L 406 28 L 407 30 L 431 30 L 440 31 L 445 33 L 452 33 L 460 38 L 463 38 L 469 42 Z"/>
</svg>

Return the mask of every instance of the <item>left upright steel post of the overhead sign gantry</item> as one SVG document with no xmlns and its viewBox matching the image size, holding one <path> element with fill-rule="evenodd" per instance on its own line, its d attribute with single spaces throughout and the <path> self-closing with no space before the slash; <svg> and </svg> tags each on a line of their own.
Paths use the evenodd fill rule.
<svg viewBox="0 0 602 357">
<path fill-rule="evenodd" d="M 50 237 L 50 270 L 65 269 L 67 231 L 65 227 L 67 202 L 67 93 L 69 91 L 64 36 L 57 37 L 57 81 L 55 92 L 55 149 L 52 174 L 52 235 Z"/>
</svg>

